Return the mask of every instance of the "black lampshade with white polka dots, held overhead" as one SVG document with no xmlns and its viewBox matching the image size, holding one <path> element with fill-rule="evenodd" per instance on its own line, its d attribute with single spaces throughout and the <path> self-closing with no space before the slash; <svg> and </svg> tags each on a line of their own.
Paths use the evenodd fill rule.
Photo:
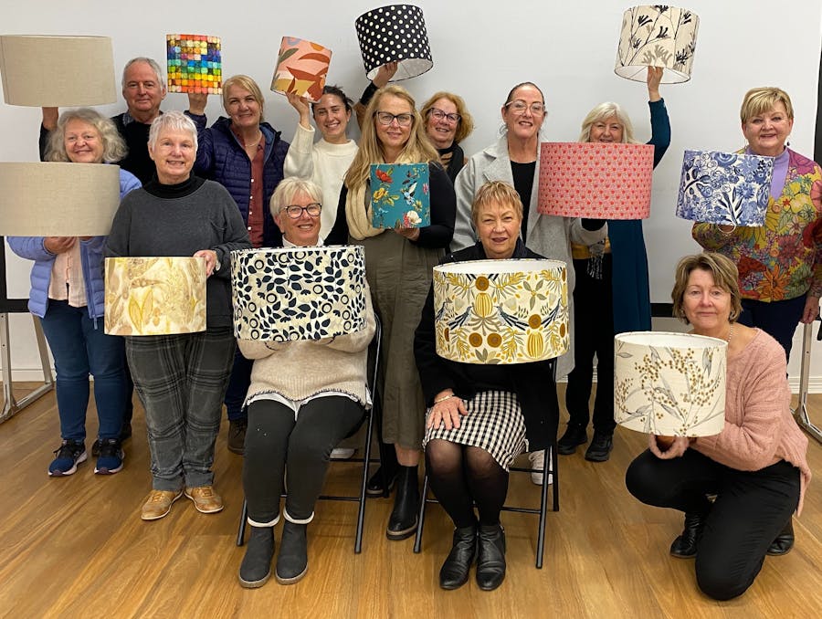
<svg viewBox="0 0 822 619">
<path fill-rule="evenodd" d="M 398 62 L 392 81 L 416 78 L 434 66 L 419 6 L 381 6 L 357 17 L 354 26 L 368 79 L 387 62 Z"/>
</svg>

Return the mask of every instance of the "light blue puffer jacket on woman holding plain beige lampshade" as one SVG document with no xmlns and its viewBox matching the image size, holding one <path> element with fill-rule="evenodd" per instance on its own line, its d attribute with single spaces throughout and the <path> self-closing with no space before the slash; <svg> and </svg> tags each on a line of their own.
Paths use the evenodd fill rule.
<svg viewBox="0 0 822 619">
<path fill-rule="evenodd" d="M 140 187 L 140 181 L 131 172 L 120 170 L 120 197 L 132 189 Z M 92 236 L 88 241 L 79 241 L 80 262 L 83 279 L 86 282 L 86 307 L 89 318 L 100 318 L 105 309 L 106 292 L 103 282 L 102 260 L 107 236 Z M 6 236 L 9 247 L 19 257 L 34 260 L 31 268 L 31 291 L 28 293 L 28 310 L 43 318 L 48 309 L 48 286 L 51 283 L 51 268 L 56 256 L 46 250 L 45 236 Z"/>
</svg>

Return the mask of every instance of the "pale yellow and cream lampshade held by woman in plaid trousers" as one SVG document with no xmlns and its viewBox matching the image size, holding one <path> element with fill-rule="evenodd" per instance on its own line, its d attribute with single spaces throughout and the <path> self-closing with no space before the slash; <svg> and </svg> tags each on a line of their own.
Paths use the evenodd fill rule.
<svg viewBox="0 0 822 619">
<path fill-rule="evenodd" d="M 205 258 L 106 258 L 106 333 L 205 330 Z"/>
</svg>

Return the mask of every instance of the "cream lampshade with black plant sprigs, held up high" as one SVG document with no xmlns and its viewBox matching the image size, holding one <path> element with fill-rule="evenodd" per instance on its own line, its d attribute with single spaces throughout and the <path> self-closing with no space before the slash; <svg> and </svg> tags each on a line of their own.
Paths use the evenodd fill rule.
<svg viewBox="0 0 822 619">
<path fill-rule="evenodd" d="M 618 76 L 645 81 L 647 67 L 662 67 L 663 84 L 690 79 L 700 18 L 686 8 L 642 5 L 627 9 L 617 47 Z"/>
</svg>

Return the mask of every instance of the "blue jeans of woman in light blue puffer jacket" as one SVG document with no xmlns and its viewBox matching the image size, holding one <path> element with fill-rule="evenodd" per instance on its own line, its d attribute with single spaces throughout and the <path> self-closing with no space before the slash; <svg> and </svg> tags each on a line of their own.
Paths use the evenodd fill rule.
<svg viewBox="0 0 822 619">
<path fill-rule="evenodd" d="M 120 436 L 125 402 L 122 338 L 106 335 L 102 318 L 91 319 L 88 308 L 72 308 L 68 301 L 49 300 L 40 321 L 57 371 L 60 435 L 85 440 L 91 374 L 100 438 Z"/>
</svg>

